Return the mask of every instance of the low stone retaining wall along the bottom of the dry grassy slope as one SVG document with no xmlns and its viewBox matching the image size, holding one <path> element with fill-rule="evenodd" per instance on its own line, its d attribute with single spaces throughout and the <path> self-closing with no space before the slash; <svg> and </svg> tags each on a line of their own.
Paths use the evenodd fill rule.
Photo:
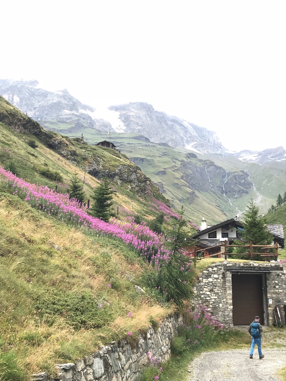
<svg viewBox="0 0 286 381">
<path fill-rule="evenodd" d="M 159 365 L 170 357 L 170 342 L 177 333 L 181 318 L 167 317 L 158 330 L 149 326 L 146 335 L 139 335 L 133 344 L 126 340 L 101 346 L 100 350 L 76 363 L 58 364 L 59 373 L 32 376 L 34 381 L 137 381 L 140 371 L 148 365 Z M 159 361 L 159 362 L 157 362 Z"/>
</svg>

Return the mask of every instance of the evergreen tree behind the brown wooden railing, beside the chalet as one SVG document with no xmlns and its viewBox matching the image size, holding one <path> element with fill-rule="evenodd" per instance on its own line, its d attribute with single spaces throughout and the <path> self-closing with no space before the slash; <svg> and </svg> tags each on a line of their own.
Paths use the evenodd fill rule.
<svg viewBox="0 0 286 381">
<path fill-rule="evenodd" d="M 264 245 L 265 243 L 270 244 L 272 242 L 272 235 L 266 230 L 266 218 L 259 216 L 259 208 L 253 200 L 247 205 L 243 217 L 244 231 L 241 232 L 241 237 L 246 245 L 249 245 L 250 241 L 253 245 Z M 241 242 L 235 240 L 234 244 L 241 245 Z M 260 250 L 261 248 L 256 247 L 252 249 L 253 253 L 260 253 Z M 233 249 L 233 253 L 243 254 L 246 252 L 249 252 L 249 248 L 236 247 Z M 243 259 L 249 259 L 249 256 Z M 260 255 L 256 255 L 253 256 L 253 259 L 259 261 L 264 260 L 264 257 L 262 259 Z"/>
</svg>

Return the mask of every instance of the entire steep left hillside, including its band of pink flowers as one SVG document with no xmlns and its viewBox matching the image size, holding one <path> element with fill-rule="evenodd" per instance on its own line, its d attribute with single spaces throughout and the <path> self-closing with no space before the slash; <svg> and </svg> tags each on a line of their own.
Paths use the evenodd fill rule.
<svg viewBox="0 0 286 381">
<path fill-rule="evenodd" d="M 136 342 L 181 307 L 194 272 L 172 241 L 180 223 L 186 235 L 194 227 L 125 155 L 46 131 L 3 98 L 0 121 L 0 379 L 22 381 L 100 344 Z M 75 171 L 87 197 L 111 180 L 109 222 L 69 199 Z M 166 235 L 141 222 L 162 211 Z"/>
</svg>

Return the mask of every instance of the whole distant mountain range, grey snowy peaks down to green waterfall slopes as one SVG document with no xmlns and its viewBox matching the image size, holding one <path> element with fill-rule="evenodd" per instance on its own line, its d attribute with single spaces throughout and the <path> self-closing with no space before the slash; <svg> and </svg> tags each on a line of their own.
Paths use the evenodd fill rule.
<svg viewBox="0 0 286 381">
<path fill-rule="evenodd" d="M 283 147 L 231 152 L 213 131 L 146 102 L 95 109 L 67 90 L 41 89 L 37 81 L 0 80 L 0 94 L 47 130 L 83 134 L 90 144 L 109 137 L 196 223 L 202 216 L 210 223 L 233 217 L 251 197 L 265 212 L 285 191 Z"/>
</svg>

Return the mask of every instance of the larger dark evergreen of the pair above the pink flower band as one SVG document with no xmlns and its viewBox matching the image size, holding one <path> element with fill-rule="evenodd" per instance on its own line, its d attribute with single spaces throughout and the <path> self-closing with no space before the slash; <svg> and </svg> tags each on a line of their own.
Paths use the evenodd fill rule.
<svg viewBox="0 0 286 381">
<path fill-rule="evenodd" d="M 89 210 L 90 215 L 108 222 L 111 215 L 110 207 L 113 204 L 112 195 L 113 191 L 109 187 L 108 179 L 105 178 L 93 192 L 92 199 L 94 202 Z"/>
</svg>

